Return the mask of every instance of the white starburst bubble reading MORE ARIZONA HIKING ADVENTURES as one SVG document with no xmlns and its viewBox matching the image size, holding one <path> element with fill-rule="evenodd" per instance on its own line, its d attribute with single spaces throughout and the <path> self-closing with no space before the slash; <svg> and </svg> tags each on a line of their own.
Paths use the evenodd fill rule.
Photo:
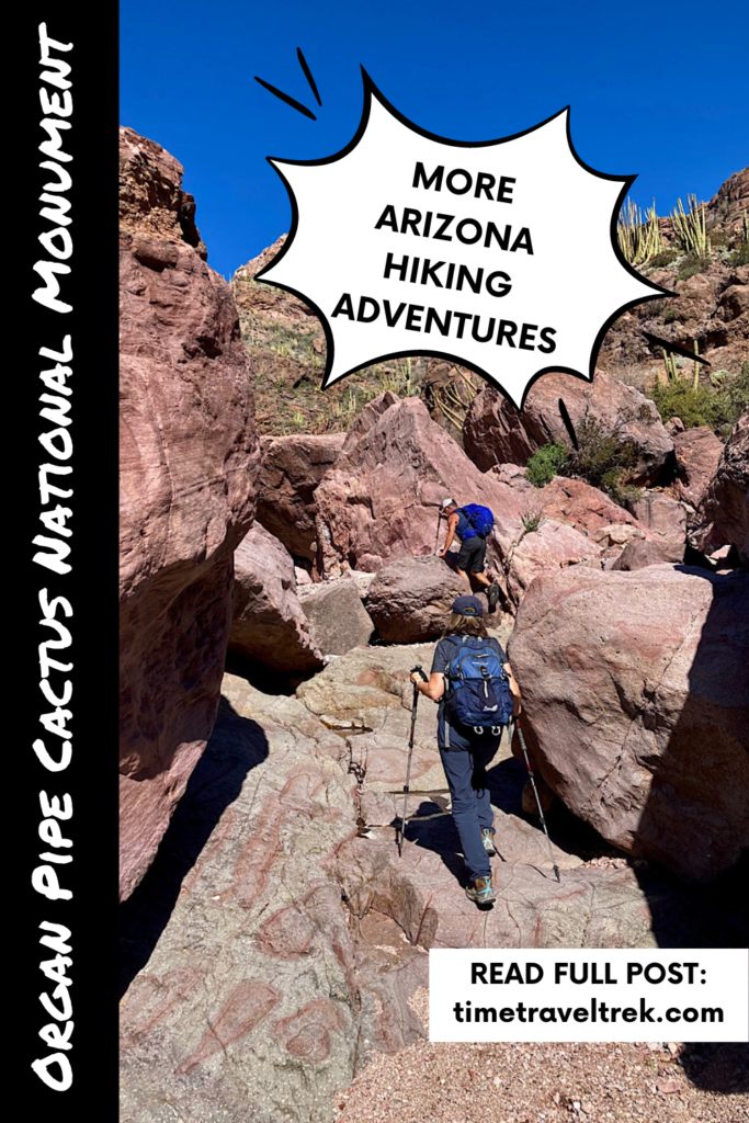
<svg viewBox="0 0 749 1123">
<path fill-rule="evenodd" d="M 322 385 L 385 359 L 438 356 L 521 408 L 549 371 L 592 378 L 616 317 L 669 294 L 619 248 L 616 217 L 636 176 L 584 164 L 568 109 L 499 140 L 447 140 L 362 73 L 362 120 L 341 152 L 268 157 L 293 221 L 256 280 L 320 318 Z"/>
</svg>

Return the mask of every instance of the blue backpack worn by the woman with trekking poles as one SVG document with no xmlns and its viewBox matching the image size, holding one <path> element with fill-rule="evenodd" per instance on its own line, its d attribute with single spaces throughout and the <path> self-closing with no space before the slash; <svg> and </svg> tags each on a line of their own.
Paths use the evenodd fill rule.
<svg viewBox="0 0 749 1123">
<path fill-rule="evenodd" d="M 456 637 L 458 648 L 446 672 L 445 722 L 467 725 L 475 733 L 491 729 L 496 737 L 512 715 L 510 681 L 490 640 Z"/>
</svg>

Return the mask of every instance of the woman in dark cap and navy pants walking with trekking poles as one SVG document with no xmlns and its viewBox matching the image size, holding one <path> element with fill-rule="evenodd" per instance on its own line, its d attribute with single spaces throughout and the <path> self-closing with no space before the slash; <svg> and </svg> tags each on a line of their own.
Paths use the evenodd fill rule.
<svg viewBox="0 0 749 1123">
<path fill-rule="evenodd" d="M 520 713 L 520 687 L 501 645 L 486 632 L 483 612 L 478 597 L 458 596 L 453 604 L 453 614 L 442 639 L 435 649 L 429 681 L 423 682 L 418 672 L 411 675 L 417 690 L 432 702 L 439 702 L 437 745 L 471 879 L 466 896 L 477 905 L 488 905 L 495 900 L 490 862 L 490 858 L 496 855 L 492 825 L 494 815 L 486 786 L 486 767 L 500 747 L 502 725 L 510 718 L 510 706 L 512 716 Z M 466 676 L 476 666 L 481 670 L 482 661 L 486 665 L 484 678 L 481 675 L 477 678 L 462 676 L 462 668 L 466 668 Z M 506 676 L 504 684 L 500 684 L 496 677 L 501 674 L 500 668 Z M 491 677 L 491 672 L 495 673 L 494 677 Z M 466 685 L 467 691 L 464 688 Z M 458 696 L 471 692 L 473 696 L 468 699 L 466 707 L 466 699 Z M 494 711 L 499 703 L 499 716 L 502 720 L 484 728 L 462 723 L 457 714 L 475 716 L 478 712 L 476 706 L 484 700 L 484 695 L 494 701 L 495 704 L 491 707 Z M 477 719 L 482 720 L 486 719 Z"/>
</svg>

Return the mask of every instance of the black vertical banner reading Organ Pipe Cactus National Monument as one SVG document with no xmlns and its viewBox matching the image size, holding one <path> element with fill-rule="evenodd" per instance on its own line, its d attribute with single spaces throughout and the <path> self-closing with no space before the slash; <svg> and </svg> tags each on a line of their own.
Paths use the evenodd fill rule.
<svg viewBox="0 0 749 1123">
<path fill-rule="evenodd" d="M 25 1119 L 106 1123 L 117 1119 L 117 9 L 31 9 L 13 38 L 17 137 L 3 162 L 21 572 L 6 633 L 7 681 L 21 683 L 7 696 L 20 718 L 6 741 L 21 1014 L 9 1075 Z"/>
</svg>

